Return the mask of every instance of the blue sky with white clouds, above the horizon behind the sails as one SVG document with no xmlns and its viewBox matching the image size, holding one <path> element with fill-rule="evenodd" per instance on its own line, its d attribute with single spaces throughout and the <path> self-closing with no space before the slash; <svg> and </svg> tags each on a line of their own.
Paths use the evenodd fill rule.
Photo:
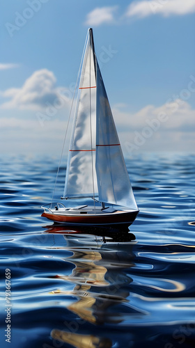
<svg viewBox="0 0 195 348">
<path fill-rule="evenodd" d="M 194 17 L 195 0 L 3 1 L 0 151 L 60 154 L 91 26 L 125 156 L 193 152 Z"/>
</svg>

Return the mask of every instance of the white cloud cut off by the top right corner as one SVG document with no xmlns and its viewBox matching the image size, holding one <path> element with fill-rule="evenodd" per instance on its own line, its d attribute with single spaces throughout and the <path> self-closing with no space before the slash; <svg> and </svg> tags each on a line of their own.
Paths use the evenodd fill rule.
<svg viewBox="0 0 195 348">
<path fill-rule="evenodd" d="M 187 15 L 195 12 L 194 0 L 156 0 L 133 1 L 127 8 L 127 17 L 148 17 L 159 14 L 164 17 L 170 15 Z"/>
</svg>

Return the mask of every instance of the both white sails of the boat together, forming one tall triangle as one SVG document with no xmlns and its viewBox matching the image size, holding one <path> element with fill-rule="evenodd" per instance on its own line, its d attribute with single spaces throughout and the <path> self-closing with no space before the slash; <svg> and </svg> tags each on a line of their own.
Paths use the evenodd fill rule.
<svg viewBox="0 0 195 348">
<path fill-rule="evenodd" d="M 95 58 L 92 29 L 81 70 L 64 197 L 95 197 L 138 209 Z"/>
</svg>

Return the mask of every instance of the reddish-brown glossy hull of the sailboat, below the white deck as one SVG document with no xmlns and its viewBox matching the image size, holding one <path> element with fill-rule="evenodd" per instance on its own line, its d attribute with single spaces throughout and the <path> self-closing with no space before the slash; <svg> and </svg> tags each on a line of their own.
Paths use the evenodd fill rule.
<svg viewBox="0 0 195 348">
<path fill-rule="evenodd" d="M 110 214 L 52 214 L 43 212 L 42 216 L 49 220 L 65 223 L 69 226 L 107 226 L 107 225 L 126 225 L 130 226 L 139 211 L 117 210 Z"/>
</svg>

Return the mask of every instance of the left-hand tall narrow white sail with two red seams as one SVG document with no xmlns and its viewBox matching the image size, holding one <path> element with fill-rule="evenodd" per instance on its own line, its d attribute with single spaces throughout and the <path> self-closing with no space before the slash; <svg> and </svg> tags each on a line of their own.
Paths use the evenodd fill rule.
<svg viewBox="0 0 195 348">
<path fill-rule="evenodd" d="M 98 196 L 95 143 L 96 79 L 92 35 L 89 31 L 68 155 L 64 197 Z"/>
</svg>

